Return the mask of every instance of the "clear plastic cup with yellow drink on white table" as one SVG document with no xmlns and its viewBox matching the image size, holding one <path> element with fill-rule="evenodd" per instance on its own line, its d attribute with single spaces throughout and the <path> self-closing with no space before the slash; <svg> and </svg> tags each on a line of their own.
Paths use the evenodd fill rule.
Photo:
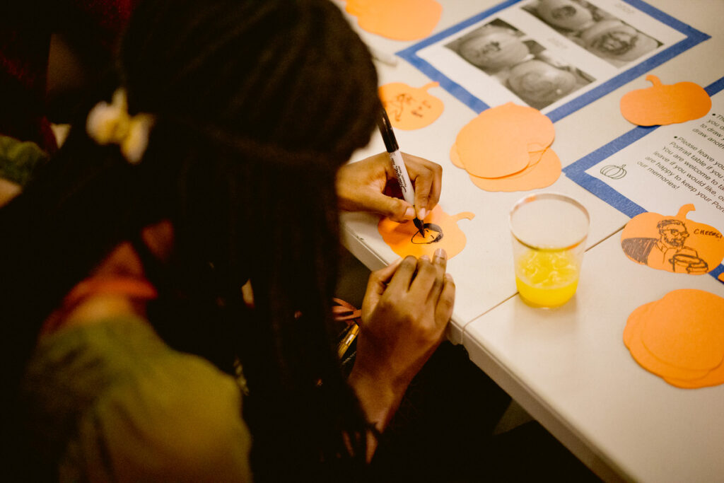
<svg viewBox="0 0 724 483">
<path fill-rule="evenodd" d="M 557 307 L 578 288 L 590 218 L 581 203 L 536 193 L 510 209 L 515 285 L 526 303 Z"/>
</svg>

